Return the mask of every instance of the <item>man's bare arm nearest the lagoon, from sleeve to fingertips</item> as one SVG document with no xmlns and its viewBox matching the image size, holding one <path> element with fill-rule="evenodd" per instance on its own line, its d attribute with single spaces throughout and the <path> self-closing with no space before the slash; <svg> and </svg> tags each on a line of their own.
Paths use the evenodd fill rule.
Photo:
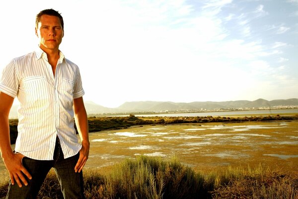
<svg viewBox="0 0 298 199">
<path fill-rule="evenodd" d="M 79 159 L 74 167 L 74 171 L 80 172 L 86 164 L 90 148 L 88 118 L 82 97 L 74 99 L 74 119 L 82 142 L 82 148 L 79 151 Z"/>
</svg>

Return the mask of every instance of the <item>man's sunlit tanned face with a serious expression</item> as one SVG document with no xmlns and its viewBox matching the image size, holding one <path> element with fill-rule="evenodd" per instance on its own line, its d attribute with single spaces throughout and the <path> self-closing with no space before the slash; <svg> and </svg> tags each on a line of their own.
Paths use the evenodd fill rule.
<svg viewBox="0 0 298 199">
<path fill-rule="evenodd" d="M 44 51 L 58 50 L 62 42 L 64 31 L 59 17 L 43 14 L 40 17 L 35 34 L 39 38 L 39 46 Z"/>
</svg>

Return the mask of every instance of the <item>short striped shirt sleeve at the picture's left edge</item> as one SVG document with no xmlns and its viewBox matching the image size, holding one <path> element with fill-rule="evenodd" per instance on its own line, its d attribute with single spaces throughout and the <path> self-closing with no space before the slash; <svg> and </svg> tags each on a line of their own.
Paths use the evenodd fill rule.
<svg viewBox="0 0 298 199">
<path fill-rule="evenodd" d="M 3 70 L 0 78 L 0 91 L 15 98 L 17 95 L 19 83 L 15 68 L 15 62 L 12 60 Z"/>
</svg>

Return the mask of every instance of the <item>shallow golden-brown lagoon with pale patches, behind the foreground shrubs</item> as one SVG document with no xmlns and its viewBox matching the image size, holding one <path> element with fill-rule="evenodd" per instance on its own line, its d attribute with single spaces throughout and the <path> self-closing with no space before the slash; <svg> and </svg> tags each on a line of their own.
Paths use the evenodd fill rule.
<svg viewBox="0 0 298 199">
<path fill-rule="evenodd" d="M 109 170 L 136 155 L 172 156 L 194 168 L 255 166 L 297 170 L 298 121 L 176 124 L 90 133 L 86 167 Z"/>
</svg>

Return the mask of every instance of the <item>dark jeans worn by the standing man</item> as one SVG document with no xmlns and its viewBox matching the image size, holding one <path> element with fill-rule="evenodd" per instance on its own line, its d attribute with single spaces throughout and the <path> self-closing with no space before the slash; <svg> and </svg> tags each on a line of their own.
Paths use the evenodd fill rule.
<svg viewBox="0 0 298 199">
<path fill-rule="evenodd" d="M 79 153 L 73 157 L 64 159 L 59 138 L 57 137 L 54 160 L 33 160 L 24 157 L 22 163 L 32 176 L 27 178 L 28 185 L 21 188 L 15 183 L 9 182 L 6 199 L 36 199 L 36 196 L 51 168 L 58 177 L 61 191 L 65 199 L 84 199 L 82 172 L 75 173 L 74 166 Z"/>
</svg>

